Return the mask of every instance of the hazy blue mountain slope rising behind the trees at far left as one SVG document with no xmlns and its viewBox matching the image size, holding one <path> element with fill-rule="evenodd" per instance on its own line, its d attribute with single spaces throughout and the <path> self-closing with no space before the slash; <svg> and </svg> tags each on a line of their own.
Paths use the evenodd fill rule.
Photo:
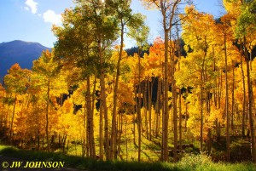
<svg viewBox="0 0 256 171">
<path fill-rule="evenodd" d="M 42 52 L 46 49 L 40 43 L 24 42 L 15 40 L 9 43 L 0 43 L 0 82 L 7 71 L 15 63 L 19 63 L 21 68 L 32 68 L 32 61 L 38 60 Z"/>
</svg>

